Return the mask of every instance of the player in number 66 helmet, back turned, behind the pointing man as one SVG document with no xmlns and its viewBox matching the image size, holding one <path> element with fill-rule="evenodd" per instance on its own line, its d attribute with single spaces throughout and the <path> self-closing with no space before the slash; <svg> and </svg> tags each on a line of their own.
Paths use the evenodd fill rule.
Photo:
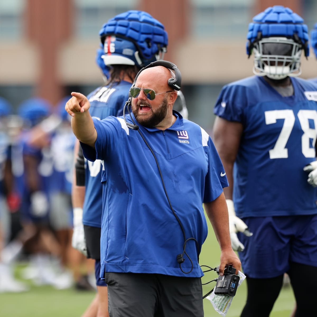
<svg viewBox="0 0 317 317">
<path fill-rule="evenodd" d="M 101 120 L 123 114 L 135 75 L 143 66 L 163 58 L 168 39 L 159 21 L 146 12 L 136 10 L 110 19 L 99 35 L 102 50 L 97 51 L 96 61 L 107 81 L 87 98 L 91 104 L 91 115 Z M 80 148 L 76 163 L 76 186 L 73 188 L 73 246 L 96 260 L 98 289 L 96 299 L 84 316 L 108 316 L 107 284 L 100 279 L 101 171 L 100 160 L 86 161 L 84 167 Z"/>
</svg>

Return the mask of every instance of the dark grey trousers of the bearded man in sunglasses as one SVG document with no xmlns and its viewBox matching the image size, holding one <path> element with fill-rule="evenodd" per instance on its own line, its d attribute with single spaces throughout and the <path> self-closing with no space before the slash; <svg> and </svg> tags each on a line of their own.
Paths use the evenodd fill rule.
<svg viewBox="0 0 317 317">
<path fill-rule="evenodd" d="M 203 317 L 199 277 L 105 273 L 110 317 Z"/>
</svg>

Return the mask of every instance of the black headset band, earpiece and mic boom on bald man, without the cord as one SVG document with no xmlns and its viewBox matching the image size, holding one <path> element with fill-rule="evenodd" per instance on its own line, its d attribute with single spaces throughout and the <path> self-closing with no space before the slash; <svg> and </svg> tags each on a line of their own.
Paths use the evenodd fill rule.
<svg viewBox="0 0 317 317">
<path fill-rule="evenodd" d="M 143 67 L 138 74 L 136 74 L 135 76 L 135 79 L 133 81 L 133 84 L 131 87 L 134 87 L 135 86 L 135 83 L 139 77 L 139 74 L 141 74 L 146 68 L 151 68 L 151 67 L 155 67 L 155 66 L 163 66 L 165 68 L 169 68 L 171 70 L 174 71 L 175 73 L 175 78 L 170 78 L 167 83 L 170 87 L 172 87 L 173 89 L 175 90 L 180 90 L 180 87 L 181 87 L 181 82 L 182 82 L 182 75 L 179 71 L 179 69 L 177 68 L 177 66 L 175 64 L 173 64 L 172 62 L 170 61 L 163 61 L 163 60 L 159 60 L 159 61 L 153 61 L 152 63 L 150 63 L 149 65 Z M 131 116 L 131 113 L 129 111 L 129 107 L 131 106 L 131 102 L 132 102 L 132 96 L 130 94 L 130 91 L 129 91 L 129 99 L 126 101 L 125 105 L 124 105 L 124 108 L 123 108 L 123 117 L 124 117 L 124 120 L 126 122 L 126 125 L 128 128 L 132 129 L 132 130 L 138 130 L 139 129 L 139 126 L 135 124 L 132 116 Z M 130 115 L 130 118 L 133 122 L 133 124 L 129 123 L 126 121 L 126 116 L 125 116 L 125 109 L 128 109 L 128 112 L 129 112 L 129 115 Z"/>
</svg>

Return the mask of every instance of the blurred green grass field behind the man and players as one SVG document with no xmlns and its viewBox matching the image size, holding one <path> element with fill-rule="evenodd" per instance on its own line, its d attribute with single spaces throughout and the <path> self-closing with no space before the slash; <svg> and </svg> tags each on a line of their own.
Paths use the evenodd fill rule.
<svg viewBox="0 0 317 317">
<path fill-rule="evenodd" d="M 203 245 L 200 264 L 214 268 L 219 265 L 219 256 L 218 244 L 210 228 L 207 240 Z M 17 268 L 17 276 L 19 276 L 19 267 Z M 205 283 L 216 277 L 216 272 L 208 272 L 202 281 Z M 214 285 L 215 282 L 212 282 L 204 286 L 203 293 L 206 294 Z M 0 317 L 78 317 L 85 311 L 94 295 L 94 292 L 79 292 L 72 288 L 58 291 L 50 286 L 36 287 L 31 285 L 31 290 L 27 293 L 0 294 Z M 243 281 L 226 316 L 238 317 L 245 299 L 246 281 Z M 283 288 L 270 316 L 288 317 L 293 307 L 294 295 L 292 289 L 290 287 Z M 259 309 L 261 308 L 259 307 Z M 204 312 L 205 317 L 220 316 L 207 299 L 204 299 Z"/>
</svg>

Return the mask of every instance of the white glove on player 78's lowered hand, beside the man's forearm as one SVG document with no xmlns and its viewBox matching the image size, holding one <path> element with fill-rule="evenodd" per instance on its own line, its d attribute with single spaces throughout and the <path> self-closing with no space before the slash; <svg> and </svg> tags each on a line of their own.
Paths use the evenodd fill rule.
<svg viewBox="0 0 317 317">
<path fill-rule="evenodd" d="M 253 233 L 249 231 L 248 226 L 236 216 L 235 207 L 231 199 L 226 199 L 229 214 L 229 231 L 231 238 L 231 246 L 235 251 L 243 251 L 244 245 L 239 241 L 237 232 L 242 232 L 246 236 L 252 236 Z"/>
</svg>

